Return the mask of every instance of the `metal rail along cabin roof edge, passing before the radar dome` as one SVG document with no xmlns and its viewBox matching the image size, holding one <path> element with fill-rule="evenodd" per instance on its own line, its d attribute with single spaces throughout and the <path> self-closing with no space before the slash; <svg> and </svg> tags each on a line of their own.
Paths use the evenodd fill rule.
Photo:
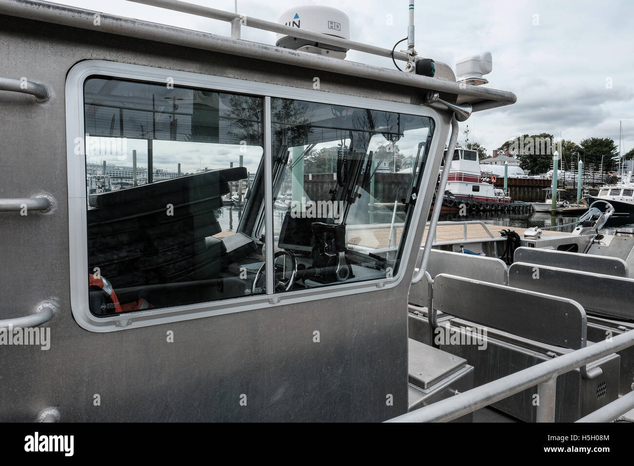
<svg viewBox="0 0 634 466">
<path fill-rule="evenodd" d="M 205 18 L 212 18 L 214 20 L 229 22 L 231 23 L 232 37 L 235 37 L 236 39 L 240 38 L 239 28 L 243 25 L 255 29 L 284 34 L 285 36 L 299 37 L 299 39 L 306 39 L 308 41 L 321 42 L 341 48 L 370 53 L 372 55 L 387 56 L 388 58 L 391 58 L 392 56 L 391 49 L 384 49 L 382 47 L 363 44 L 361 42 L 350 41 L 349 39 L 340 39 L 339 37 L 328 36 L 328 34 L 312 32 L 306 29 L 298 29 L 297 27 L 290 27 L 271 21 L 259 20 L 257 18 L 252 18 L 251 16 L 242 15 L 240 13 L 231 13 L 230 11 L 216 10 L 216 8 L 209 8 L 208 6 L 195 5 L 179 0 L 128 1 L 134 3 L 142 3 L 148 6 L 155 6 L 157 8 L 164 8 L 165 10 L 181 11 L 181 13 L 189 13 L 190 15 L 203 16 Z M 406 53 L 394 51 L 394 59 L 408 61 L 409 57 Z"/>
</svg>

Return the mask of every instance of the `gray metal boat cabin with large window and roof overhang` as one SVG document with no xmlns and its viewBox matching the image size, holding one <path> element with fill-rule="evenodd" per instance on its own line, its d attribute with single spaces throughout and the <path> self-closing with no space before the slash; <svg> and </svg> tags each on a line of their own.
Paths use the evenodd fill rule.
<svg viewBox="0 0 634 466">
<path fill-rule="evenodd" d="M 456 115 L 515 96 L 440 62 L 351 63 L 243 41 L 232 24 L 222 37 L 0 3 L 15 210 L 0 214 L 0 320 L 51 333 L 47 351 L 2 348 L 1 420 L 51 406 L 67 422 L 408 410 L 407 297 L 443 148 Z M 477 154 L 456 153 L 478 178 Z M 380 168 L 395 158 L 410 168 Z M 97 165 L 121 183 L 93 191 Z"/>
</svg>

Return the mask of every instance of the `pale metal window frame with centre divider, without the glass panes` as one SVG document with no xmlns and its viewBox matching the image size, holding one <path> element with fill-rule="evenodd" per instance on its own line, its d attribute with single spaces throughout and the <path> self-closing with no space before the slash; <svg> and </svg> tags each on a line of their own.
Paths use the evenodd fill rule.
<svg viewBox="0 0 634 466">
<path fill-rule="evenodd" d="M 244 81 L 215 75 L 196 74 L 164 68 L 146 67 L 105 60 L 86 60 L 75 64 L 68 71 L 66 80 L 66 137 L 67 137 L 67 173 L 68 173 L 68 242 L 70 258 L 70 304 L 75 321 L 80 327 L 91 332 L 112 332 L 126 328 L 147 327 L 164 323 L 192 320 L 221 314 L 275 308 L 286 304 L 297 304 L 316 299 L 327 299 L 343 295 L 359 294 L 398 286 L 405 278 L 406 266 L 399 267 L 398 273 L 391 278 L 379 278 L 364 282 L 334 283 L 318 288 L 296 290 L 284 294 L 274 294 L 273 287 L 267 286 L 266 295 L 235 297 L 219 301 L 200 302 L 185 306 L 162 307 L 147 311 L 135 311 L 107 317 L 94 316 L 88 308 L 87 264 L 87 223 L 86 223 L 86 157 L 75 153 L 78 143 L 84 138 L 84 82 L 94 75 L 110 76 L 136 82 L 157 82 L 167 84 L 171 79 L 174 86 L 196 87 L 210 91 L 247 94 L 264 98 L 264 222 L 267 230 L 273 228 L 272 166 L 271 159 L 271 98 L 290 98 L 316 103 L 346 105 L 357 108 L 370 108 L 385 112 L 408 113 L 429 117 L 434 121 L 434 134 L 429 146 L 429 158 L 420 178 L 421 193 L 427 191 L 432 176 L 430 170 L 439 145 L 443 119 L 430 107 L 395 103 L 387 100 L 328 93 L 312 88 L 280 86 L 256 81 Z M 312 84 L 309 83 L 309 84 Z M 312 86 L 311 86 L 312 87 Z M 81 139 L 80 139 L 81 138 Z M 414 205 L 411 214 L 408 235 L 402 248 L 402 256 L 409 257 L 413 247 L 412 232 L 418 228 L 422 202 Z M 270 205 L 270 207 L 269 207 Z M 266 235 L 267 277 L 273 281 L 273 236 Z"/>
</svg>

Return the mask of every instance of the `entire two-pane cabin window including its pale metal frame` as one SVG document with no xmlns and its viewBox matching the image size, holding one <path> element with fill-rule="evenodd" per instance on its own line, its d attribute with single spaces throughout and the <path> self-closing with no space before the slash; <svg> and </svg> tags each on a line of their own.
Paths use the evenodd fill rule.
<svg viewBox="0 0 634 466">
<path fill-rule="evenodd" d="M 423 178 L 433 112 L 165 72 L 86 60 L 68 73 L 67 87 L 81 91 L 66 103 L 70 292 L 82 328 L 262 309 L 405 278 L 416 203 L 434 182 Z"/>
</svg>

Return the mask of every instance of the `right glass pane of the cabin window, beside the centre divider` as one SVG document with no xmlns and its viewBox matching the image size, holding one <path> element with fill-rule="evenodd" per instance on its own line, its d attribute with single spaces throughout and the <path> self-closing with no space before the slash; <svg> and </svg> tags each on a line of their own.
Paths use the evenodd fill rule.
<svg viewBox="0 0 634 466">
<path fill-rule="evenodd" d="M 284 98 L 271 120 L 275 292 L 395 275 L 433 121 Z"/>
</svg>

